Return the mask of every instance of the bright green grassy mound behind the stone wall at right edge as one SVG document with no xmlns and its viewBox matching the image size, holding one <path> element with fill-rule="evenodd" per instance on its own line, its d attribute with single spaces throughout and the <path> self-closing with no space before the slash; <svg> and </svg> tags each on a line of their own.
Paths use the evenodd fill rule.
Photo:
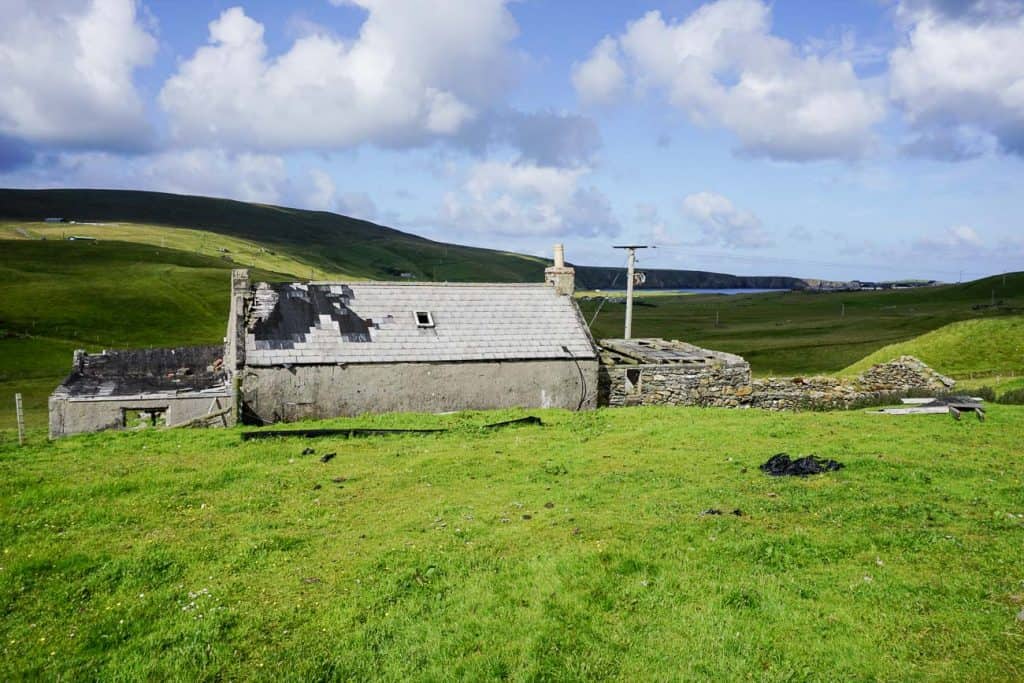
<svg viewBox="0 0 1024 683">
<path fill-rule="evenodd" d="M 913 355 L 957 378 L 1024 374 L 1024 315 L 952 323 L 909 341 L 884 346 L 844 371 L 856 375 L 879 362 Z"/>
</svg>

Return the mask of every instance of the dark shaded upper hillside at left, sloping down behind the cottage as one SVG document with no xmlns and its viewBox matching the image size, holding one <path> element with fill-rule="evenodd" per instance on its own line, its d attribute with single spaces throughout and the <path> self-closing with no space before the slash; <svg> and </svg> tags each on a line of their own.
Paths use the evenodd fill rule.
<svg viewBox="0 0 1024 683">
<path fill-rule="evenodd" d="M 348 278 L 395 280 L 409 272 L 419 280 L 537 282 L 545 267 L 543 259 L 433 242 L 326 211 L 134 190 L 0 189 L 0 219 L 46 217 L 224 234 L 287 252 L 304 264 L 302 272 L 312 267 Z"/>
</svg>

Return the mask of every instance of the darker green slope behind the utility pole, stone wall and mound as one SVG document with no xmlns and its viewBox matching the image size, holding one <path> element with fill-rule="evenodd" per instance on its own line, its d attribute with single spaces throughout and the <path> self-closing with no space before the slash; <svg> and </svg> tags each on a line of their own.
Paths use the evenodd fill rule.
<svg viewBox="0 0 1024 683">
<path fill-rule="evenodd" d="M 624 304 L 602 306 L 600 300 L 591 299 L 581 307 L 588 319 L 600 307 L 592 326 L 595 336 L 622 336 Z M 684 339 L 738 353 L 758 375 L 835 373 L 883 346 L 950 323 L 1021 313 L 1024 272 L 1016 272 L 963 285 L 887 292 L 651 296 L 634 308 L 633 334 Z M 1019 356 L 989 365 L 1024 372 Z M 936 367 L 944 370 L 941 362 Z"/>
</svg>

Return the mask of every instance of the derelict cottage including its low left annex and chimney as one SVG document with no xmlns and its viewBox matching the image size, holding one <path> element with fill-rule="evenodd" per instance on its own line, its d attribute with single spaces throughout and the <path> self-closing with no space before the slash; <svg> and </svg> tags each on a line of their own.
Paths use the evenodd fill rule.
<svg viewBox="0 0 1024 683">
<path fill-rule="evenodd" d="M 573 276 L 560 249 L 536 285 L 269 284 L 234 270 L 223 347 L 76 352 L 50 397 L 50 435 L 595 408 L 597 346 L 572 298 Z"/>
</svg>

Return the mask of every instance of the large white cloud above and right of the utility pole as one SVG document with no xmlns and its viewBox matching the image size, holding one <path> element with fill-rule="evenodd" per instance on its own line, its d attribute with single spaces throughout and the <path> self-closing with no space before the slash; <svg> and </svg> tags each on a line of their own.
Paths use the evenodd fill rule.
<svg viewBox="0 0 1024 683">
<path fill-rule="evenodd" d="M 616 57 L 615 48 L 622 57 Z M 850 61 L 803 55 L 771 33 L 761 0 L 718 0 L 682 20 L 650 11 L 602 41 L 573 80 L 582 98 L 618 90 L 611 63 L 639 90 L 664 92 L 701 125 L 732 131 L 740 151 L 791 161 L 863 156 L 885 116 Z"/>
</svg>

